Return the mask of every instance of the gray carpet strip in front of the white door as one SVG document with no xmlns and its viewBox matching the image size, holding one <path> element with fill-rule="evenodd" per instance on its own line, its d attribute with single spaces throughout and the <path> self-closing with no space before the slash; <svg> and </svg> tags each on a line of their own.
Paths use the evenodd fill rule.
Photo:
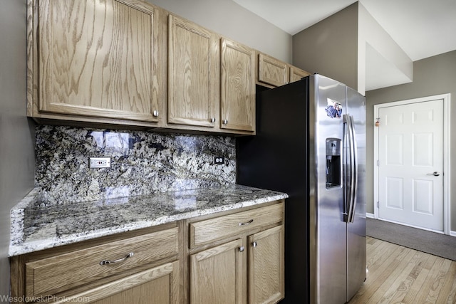
<svg viewBox="0 0 456 304">
<path fill-rule="evenodd" d="M 388 241 L 456 261 L 455 236 L 437 234 L 378 219 L 367 219 L 366 233 L 374 239 Z"/>
</svg>

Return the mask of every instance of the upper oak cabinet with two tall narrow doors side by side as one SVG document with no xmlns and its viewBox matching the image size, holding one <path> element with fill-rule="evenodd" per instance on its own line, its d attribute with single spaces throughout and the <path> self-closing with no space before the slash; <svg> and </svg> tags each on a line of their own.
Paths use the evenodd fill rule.
<svg viewBox="0 0 456 304">
<path fill-rule="evenodd" d="M 168 127 L 253 134 L 254 73 L 252 48 L 168 16 Z"/>
</svg>

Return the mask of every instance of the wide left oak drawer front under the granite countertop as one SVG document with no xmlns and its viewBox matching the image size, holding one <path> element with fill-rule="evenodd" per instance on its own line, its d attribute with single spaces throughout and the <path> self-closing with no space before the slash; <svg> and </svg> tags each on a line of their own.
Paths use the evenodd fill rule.
<svg viewBox="0 0 456 304">
<path fill-rule="evenodd" d="M 130 268 L 177 256 L 178 229 L 172 228 L 113 241 L 26 263 L 26 296 L 52 295 Z M 128 253 L 133 256 L 125 258 Z M 115 261 L 105 263 L 101 261 Z"/>
</svg>

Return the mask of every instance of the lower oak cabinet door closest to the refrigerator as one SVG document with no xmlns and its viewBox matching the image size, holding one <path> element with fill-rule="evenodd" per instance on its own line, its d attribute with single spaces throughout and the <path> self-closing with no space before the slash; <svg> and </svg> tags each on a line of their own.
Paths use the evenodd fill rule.
<svg viewBox="0 0 456 304">
<path fill-rule="evenodd" d="M 284 226 L 249 236 L 249 304 L 284 298 Z"/>
</svg>

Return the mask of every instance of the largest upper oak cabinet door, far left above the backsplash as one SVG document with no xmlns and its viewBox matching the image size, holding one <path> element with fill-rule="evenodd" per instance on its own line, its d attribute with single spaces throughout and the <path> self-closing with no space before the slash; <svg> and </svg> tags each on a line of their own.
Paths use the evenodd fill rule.
<svg viewBox="0 0 456 304">
<path fill-rule="evenodd" d="M 39 110 L 157 121 L 155 14 L 136 0 L 39 1 Z"/>
</svg>

